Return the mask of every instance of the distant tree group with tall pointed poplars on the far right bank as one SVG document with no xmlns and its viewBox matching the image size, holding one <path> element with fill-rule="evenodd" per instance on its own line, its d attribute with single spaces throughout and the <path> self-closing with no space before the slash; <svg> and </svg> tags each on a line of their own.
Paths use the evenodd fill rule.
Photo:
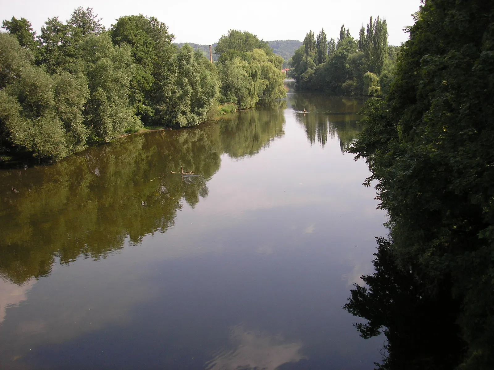
<svg viewBox="0 0 494 370">
<path fill-rule="evenodd" d="M 336 41 L 328 41 L 324 29 L 317 36 L 310 31 L 290 60 L 290 75 L 302 90 L 379 95 L 389 90 L 398 50 L 398 46 L 388 46 L 386 20 L 379 17 L 371 17 L 358 40 L 344 25 Z"/>
</svg>

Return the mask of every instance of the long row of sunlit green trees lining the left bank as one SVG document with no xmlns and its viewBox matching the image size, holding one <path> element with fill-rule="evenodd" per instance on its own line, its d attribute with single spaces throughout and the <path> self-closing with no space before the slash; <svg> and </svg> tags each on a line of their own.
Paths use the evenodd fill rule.
<svg viewBox="0 0 494 370">
<path fill-rule="evenodd" d="M 230 31 L 211 64 L 155 17 L 124 16 L 105 30 L 92 8 L 36 36 L 12 17 L 0 34 L 0 159 L 57 160 L 143 125 L 184 127 L 284 97 L 283 59 L 265 41 Z M 245 43 L 244 41 L 248 42 Z M 257 50 L 259 48 L 259 50 Z"/>
</svg>

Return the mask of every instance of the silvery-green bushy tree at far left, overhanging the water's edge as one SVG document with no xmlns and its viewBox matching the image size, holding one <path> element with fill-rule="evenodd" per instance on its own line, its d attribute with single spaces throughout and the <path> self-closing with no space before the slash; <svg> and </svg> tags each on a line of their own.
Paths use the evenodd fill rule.
<svg viewBox="0 0 494 370">
<path fill-rule="evenodd" d="M 84 77 L 50 76 L 7 34 L 0 34 L 0 61 L 0 150 L 59 159 L 84 148 Z"/>
</svg>

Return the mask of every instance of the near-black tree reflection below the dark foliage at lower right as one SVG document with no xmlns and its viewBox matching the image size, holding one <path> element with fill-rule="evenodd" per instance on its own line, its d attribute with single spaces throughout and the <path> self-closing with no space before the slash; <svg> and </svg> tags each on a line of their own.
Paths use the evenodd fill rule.
<svg viewBox="0 0 494 370">
<path fill-rule="evenodd" d="M 364 338 L 386 335 L 382 364 L 376 369 L 455 369 L 465 349 L 455 320 L 460 309 L 451 298 L 448 278 L 434 291 L 417 277 L 413 266 L 397 265 L 393 244 L 377 238 L 375 271 L 362 276 L 367 287 L 355 284 L 343 308 L 368 320 L 354 326 Z"/>
</svg>

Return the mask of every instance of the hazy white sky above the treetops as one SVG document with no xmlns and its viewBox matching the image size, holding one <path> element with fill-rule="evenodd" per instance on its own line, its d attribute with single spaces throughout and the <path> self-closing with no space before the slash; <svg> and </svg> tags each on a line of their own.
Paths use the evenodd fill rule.
<svg viewBox="0 0 494 370">
<path fill-rule="evenodd" d="M 379 15 L 388 24 L 389 43 L 399 45 L 407 40 L 403 28 L 413 24 L 411 14 L 419 5 L 420 0 L 0 0 L 0 17 L 24 17 L 39 32 L 48 17 L 65 21 L 74 8 L 89 6 L 106 27 L 120 16 L 142 13 L 165 22 L 175 42 L 211 44 L 232 28 L 264 40 L 303 40 L 309 30 L 324 28 L 328 39 L 336 39 L 345 24 L 358 37 L 369 17 Z"/>
</svg>

